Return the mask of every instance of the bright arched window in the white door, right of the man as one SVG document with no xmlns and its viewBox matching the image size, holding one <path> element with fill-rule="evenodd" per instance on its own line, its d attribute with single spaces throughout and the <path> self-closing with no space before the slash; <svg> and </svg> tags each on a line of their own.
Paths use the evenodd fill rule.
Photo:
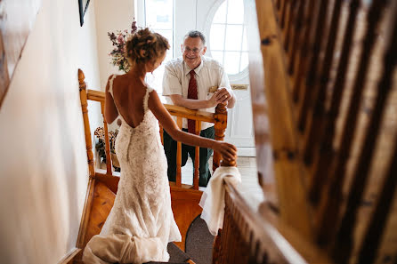
<svg viewBox="0 0 397 264">
<path fill-rule="evenodd" d="M 209 51 L 228 75 L 238 75 L 248 66 L 247 32 L 243 0 L 225 0 L 212 20 Z"/>
</svg>

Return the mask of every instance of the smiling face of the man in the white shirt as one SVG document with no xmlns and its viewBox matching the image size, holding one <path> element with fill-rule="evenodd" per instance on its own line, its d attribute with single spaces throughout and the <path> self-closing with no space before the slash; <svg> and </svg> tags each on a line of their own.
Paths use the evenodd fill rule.
<svg viewBox="0 0 397 264">
<path fill-rule="evenodd" d="M 201 38 L 186 37 L 182 47 L 182 57 L 189 68 L 197 68 L 201 63 L 201 56 L 207 52 L 207 47 L 204 46 Z"/>
</svg>

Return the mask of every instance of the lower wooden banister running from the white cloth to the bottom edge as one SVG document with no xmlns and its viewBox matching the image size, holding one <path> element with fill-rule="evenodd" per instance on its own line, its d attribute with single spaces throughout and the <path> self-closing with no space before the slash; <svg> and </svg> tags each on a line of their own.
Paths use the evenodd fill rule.
<svg viewBox="0 0 397 264">
<path fill-rule="evenodd" d="M 324 252 L 288 227 L 267 203 L 247 203 L 226 177 L 223 229 L 216 237 L 213 263 L 332 263 Z"/>
</svg>

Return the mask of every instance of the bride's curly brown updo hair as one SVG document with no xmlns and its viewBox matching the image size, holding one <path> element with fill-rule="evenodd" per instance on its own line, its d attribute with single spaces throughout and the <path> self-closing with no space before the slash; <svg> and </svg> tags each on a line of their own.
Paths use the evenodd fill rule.
<svg viewBox="0 0 397 264">
<path fill-rule="evenodd" d="M 162 56 L 170 45 L 166 37 L 142 28 L 129 37 L 126 42 L 126 58 L 131 66 L 156 60 Z"/>
</svg>

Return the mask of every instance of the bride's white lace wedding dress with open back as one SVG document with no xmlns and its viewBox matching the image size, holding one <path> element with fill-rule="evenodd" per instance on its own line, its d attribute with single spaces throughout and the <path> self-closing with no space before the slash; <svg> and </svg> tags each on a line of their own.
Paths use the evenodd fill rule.
<svg viewBox="0 0 397 264">
<path fill-rule="evenodd" d="M 112 96 L 114 78 L 109 81 Z M 167 261 L 168 242 L 181 241 L 171 209 L 158 120 L 148 108 L 150 92 L 148 88 L 143 100 L 141 124 L 133 128 L 120 115 L 116 153 L 121 176 L 117 196 L 101 234 L 93 236 L 85 247 L 86 264 Z"/>
</svg>

